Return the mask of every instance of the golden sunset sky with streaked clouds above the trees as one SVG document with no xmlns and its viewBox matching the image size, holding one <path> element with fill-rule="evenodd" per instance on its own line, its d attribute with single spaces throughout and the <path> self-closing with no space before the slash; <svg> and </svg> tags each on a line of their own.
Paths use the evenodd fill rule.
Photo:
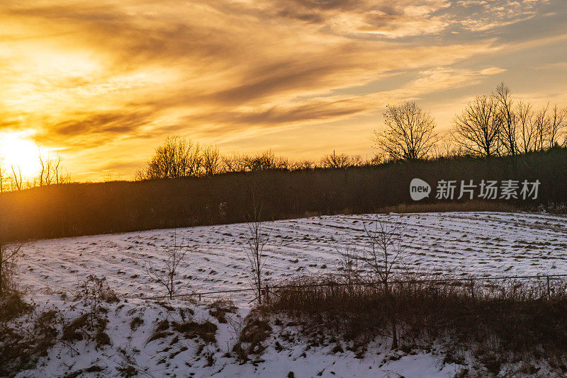
<svg viewBox="0 0 567 378">
<path fill-rule="evenodd" d="M 567 105 L 566 0 L 3 0 L 0 156 L 131 178 L 169 134 L 371 156 L 386 104 L 439 130 L 500 81 Z"/>
</svg>

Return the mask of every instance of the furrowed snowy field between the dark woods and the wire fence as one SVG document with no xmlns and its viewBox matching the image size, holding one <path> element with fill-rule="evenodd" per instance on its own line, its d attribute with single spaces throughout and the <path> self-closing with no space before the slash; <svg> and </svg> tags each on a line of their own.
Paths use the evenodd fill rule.
<svg viewBox="0 0 567 378">
<path fill-rule="evenodd" d="M 389 215 L 395 219 L 398 215 Z M 505 213 L 400 214 L 408 224 L 405 268 L 420 273 L 537 275 L 567 272 L 567 221 L 562 217 Z M 332 273 L 335 247 L 364 246 L 362 222 L 376 215 L 313 217 L 266 222 L 266 280 Z M 160 229 L 35 241 L 23 250 L 21 283 L 34 292 L 69 290 L 79 277 L 105 275 L 126 296 L 164 294 L 146 274 L 162 265 L 164 247 L 184 238 L 191 246 L 186 281 L 191 290 L 249 287 L 245 224 Z"/>
</svg>

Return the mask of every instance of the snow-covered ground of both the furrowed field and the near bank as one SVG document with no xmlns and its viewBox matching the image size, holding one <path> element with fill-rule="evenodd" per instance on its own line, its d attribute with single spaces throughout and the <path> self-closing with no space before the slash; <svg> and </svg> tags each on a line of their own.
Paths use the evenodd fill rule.
<svg viewBox="0 0 567 378">
<path fill-rule="evenodd" d="M 415 272 L 487 276 L 567 273 L 567 222 L 562 217 L 483 212 L 387 217 L 399 217 L 408 224 L 408 258 L 404 263 L 405 268 Z M 266 280 L 277 282 L 293 275 L 336 272 L 335 248 L 362 246 L 363 222 L 374 219 L 376 215 L 367 214 L 266 222 Z M 385 348 L 384 340 L 376 340 L 364 358 L 357 359 L 346 349 L 331 353 L 332 345 L 313 347 L 308 340 L 293 337 L 269 338 L 261 360 L 241 365 L 226 353 L 235 344 L 238 319 L 250 311 L 252 294 L 232 295 L 238 307 L 236 314 L 230 315 L 232 324 L 220 323 L 211 316 L 206 308 L 210 297 L 191 304 L 176 299 L 166 307 L 139 299 L 164 294 L 162 287 L 147 276 L 146 266 L 163 263 L 164 247 L 172 245 L 174 235 L 191 246 L 186 266 L 181 267 L 183 280 L 189 284 L 183 292 L 249 287 L 246 230 L 245 224 L 230 224 L 26 244 L 19 264 L 19 282 L 40 306 L 65 308 L 62 311 L 69 319 L 78 316 L 80 305 L 68 309 L 69 299 L 62 300 L 60 293 L 72 297 L 79 281 L 89 274 L 105 276 L 113 290 L 128 299 L 108 311 L 110 346 L 95 350 L 82 340 L 72 350 L 57 344 L 36 370 L 23 372 L 21 377 L 64 376 L 92 366 L 103 370 L 83 371 L 80 376 L 118 376 L 117 367 L 126 363 L 125 355 L 131 358 L 130 365 L 136 367 L 139 376 L 151 377 L 288 377 L 289 372 L 294 372 L 295 377 L 452 377 L 461 368 L 454 363 L 444 364 L 442 350 L 397 355 Z M 148 341 L 159 321 L 181 321 L 180 309 L 187 308 L 195 312 L 195 321 L 208 319 L 218 326 L 215 343 L 207 343 L 203 350 L 202 342 L 174 340 L 174 333 Z M 135 317 L 143 322 L 134 329 L 130 323 Z M 274 334 L 282 332 L 293 335 L 295 331 L 284 322 Z M 278 348 L 274 348 L 276 341 Z"/>
</svg>

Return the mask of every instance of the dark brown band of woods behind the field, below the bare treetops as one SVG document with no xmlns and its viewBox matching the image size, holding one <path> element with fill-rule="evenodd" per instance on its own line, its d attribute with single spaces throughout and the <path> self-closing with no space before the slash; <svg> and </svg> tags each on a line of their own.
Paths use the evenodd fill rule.
<svg viewBox="0 0 567 378">
<path fill-rule="evenodd" d="M 252 200 L 262 220 L 362 214 L 415 203 L 410 181 L 539 180 L 537 207 L 567 202 L 567 149 L 490 159 L 397 161 L 380 166 L 224 173 L 203 178 L 48 185 L 0 195 L 7 239 L 52 238 L 244 222 Z M 434 189 L 433 189 L 434 190 Z M 437 205 L 434 194 L 418 202 Z"/>
</svg>

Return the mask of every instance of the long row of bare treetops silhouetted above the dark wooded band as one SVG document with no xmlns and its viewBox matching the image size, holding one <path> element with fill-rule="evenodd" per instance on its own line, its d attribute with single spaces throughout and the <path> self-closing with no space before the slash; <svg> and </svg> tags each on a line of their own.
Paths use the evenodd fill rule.
<svg viewBox="0 0 567 378">
<path fill-rule="evenodd" d="M 218 147 L 184 137 L 168 137 L 152 159 L 137 171 L 137 180 L 206 177 L 222 173 L 298 171 L 314 168 L 378 166 L 396 161 L 459 157 L 517 156 L 567 147 L 567 108 L 546 104 L 535 110 L 504 83 L 476 96 L 456 115 L 450 132 L 440 136 L 433 116 L 412 102 L 388 105 L 384 125 L 372 136 L 376 154 L 327 154 L 318 161 L 293 161 L 268 150 L 261 154 L 221 154 Z"/>
</svg>

